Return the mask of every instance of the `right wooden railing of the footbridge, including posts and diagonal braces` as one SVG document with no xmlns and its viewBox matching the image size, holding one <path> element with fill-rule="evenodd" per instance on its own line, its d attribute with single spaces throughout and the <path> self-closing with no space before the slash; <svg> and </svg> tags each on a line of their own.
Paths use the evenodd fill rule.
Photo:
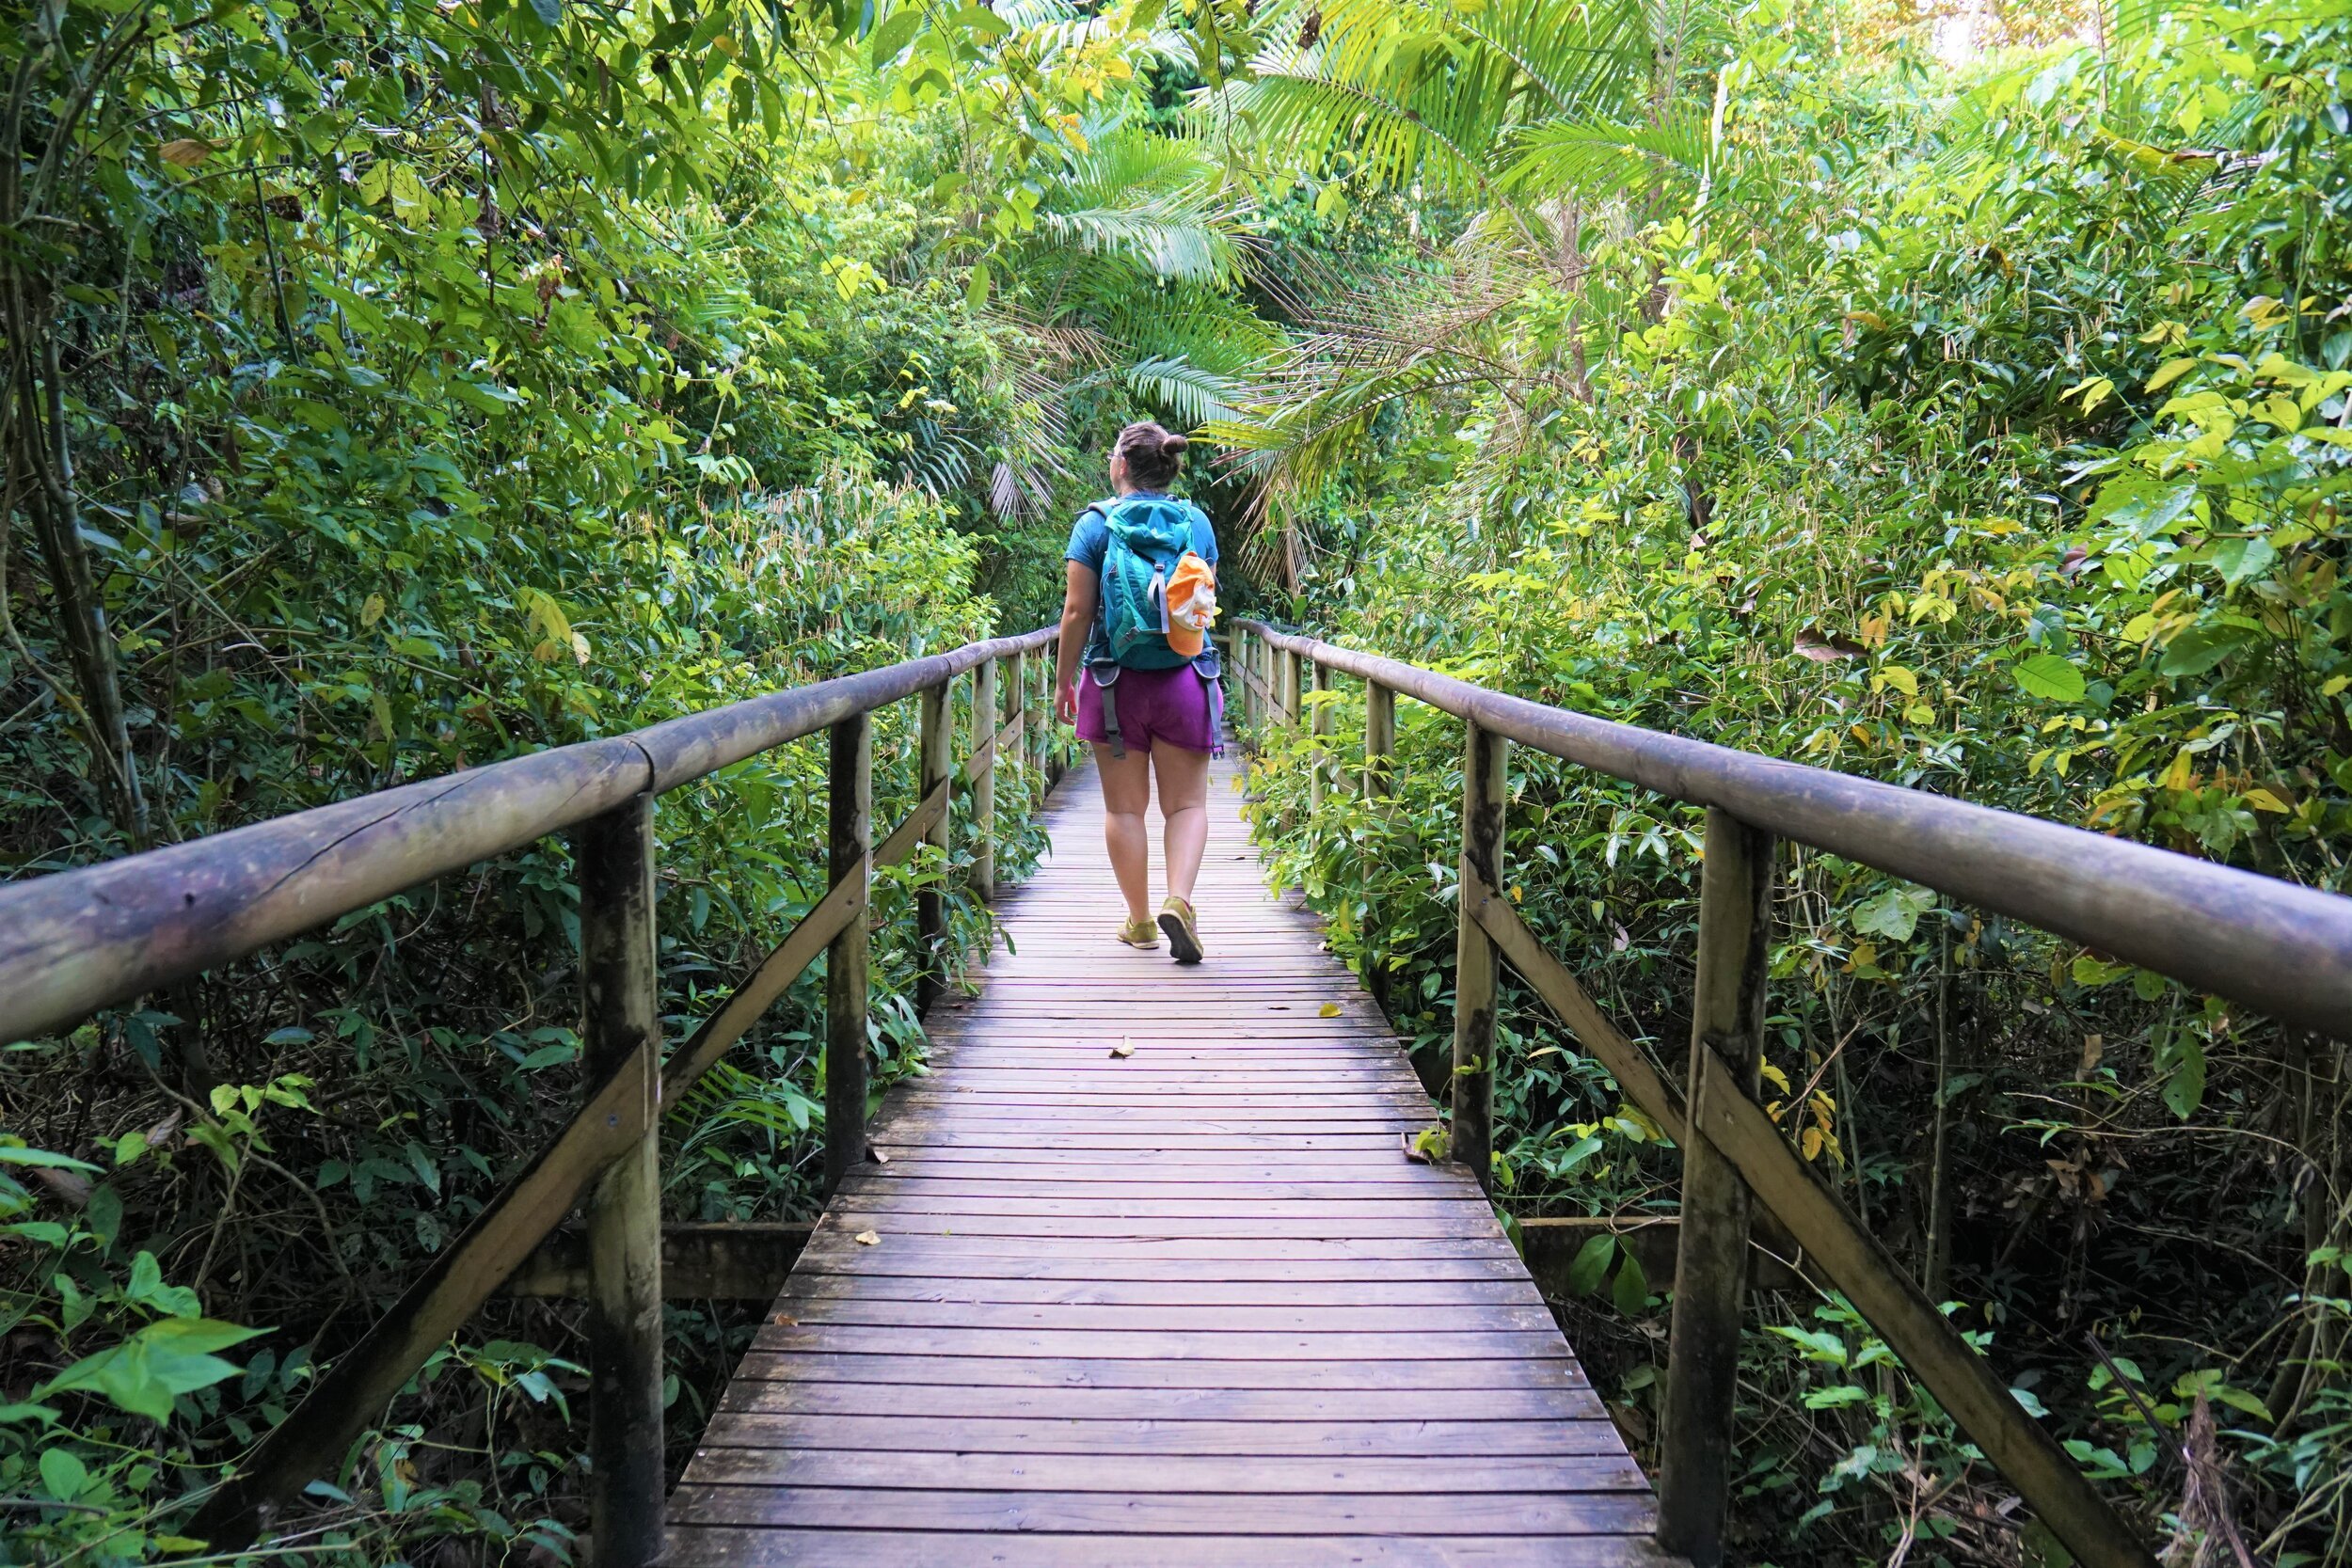
<svg viewBox="0 0 2352 1568">
<path fill-rule="evenodd" d="M 2154 1566 L 2147 1547 L 1757 1105 L 1776 842 L 1875 865 L 2324 1034 L 2343 1034 L 2352 1020 L 2352 898 L 1545 708 L 1258 621 L 1235 625 L 1230 663 L 1251 722 L 1298 724 L 1312 715 L 1317 755 L 1308 788 L 1317 802 L 1338 776 L 1329 755 L 1331 705 L 1308 703 L 1303 684 L 1324 686 L 1331 672 L 1367 682 L 1359 778 L 1371 795 L 1385 795 L 1392 783 L 1397 693 L 1463 719 L 1454 1157 L 1468 1161 L 1479 1182 L 1491 1180 L 1494 1009 L 1503 961 L 1682 1150 L 1661 1422 L 1661 1547 L 1698 1568 L 1722 1559 L 1750 1204 L 1759 1201 L 2077 1561 L 2089 1568 Z M 1679 1088 L 1609 1023 L 1496 893 L 1508 886 L 1503 766 L 1512 741 L 1708 811 L 1691 1065 Z"/>
</svg>

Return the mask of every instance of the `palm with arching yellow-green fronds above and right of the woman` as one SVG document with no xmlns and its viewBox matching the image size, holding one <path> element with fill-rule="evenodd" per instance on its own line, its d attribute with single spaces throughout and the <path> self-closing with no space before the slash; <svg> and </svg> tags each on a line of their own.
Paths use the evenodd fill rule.
<svg viewBox="0 0 2352 1568">
<path fill-rule="evenodd" d="M 1524 416 L 1538 393 L 1583 395 L 1581 346 L 1529 357 L 1494 324 L 1538 280 L 1583 287 L 1595 212 L 1639 216 L 1705 188 L 1724 14 L 1722 0 L 1270 7 L 1247 80 L 1207 115 L 1296 167 L 1352 162 L 1359 179 L 1475 207 L 1444 275 L 1312 301 L 1249 411 L 1211 421 L 1211 437 L 1251 454 L 1277 510 L 1392 402 L 1475 386 Z M 1536 421 L 1517 425 L 1534 440 Z M 1287 541 L 1284 557 L 1296 550 Z"/>
</svg>

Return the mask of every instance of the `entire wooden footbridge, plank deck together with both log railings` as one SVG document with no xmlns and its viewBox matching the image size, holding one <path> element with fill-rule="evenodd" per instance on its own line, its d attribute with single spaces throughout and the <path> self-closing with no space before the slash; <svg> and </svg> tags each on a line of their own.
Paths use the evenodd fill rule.
<svg viewBox="0 0 2352 1568">
<path fill-rule="evenodd" d="M 1000 764 L 1025 764 L 1011 773 L 1021 799 L 1058 771 L 1044 726 L 1028 722 L 1051 642 L 1054 628 L 978 642 L 0 889 L 5 1041 L 546 835 L 576 837 L 579 1112 L 176 1533 L 214 1552 L 266 1542 L 489 1295 L 550 1274 L 534 1253 L 581 1213 L 595 1568 L 663 1554 L 680 1566 L 1684 1556 L 1705 1568 L 1722 1559 L 1736 1474 L 1762 1206 L 2077 1561 L 2152 1568 L 2133 1528 L 1757 1105 L 1778 846 L 1872 865 L 2328 1034 L 2352 1018 L 2352 900 L 1244 621 L 1228 646 L 1240 710 L 1254 733 L 1310 731 L 1317 790 L 1385 795 L 1399 696 L 1463 726 L 1444 1081 L 1458 1164 L 1428 1168 L 1404 1159 L 1402 1133 L 1435 1107 L 1305 917 L 1261 891 L 1230 766 L 1200 898 L 1207 966 L 1185 973 L 1110 940 L 1120 907 L 1087 870 L 1098 797 L 1080 776 L 1051 804 L 1063 853 L 1002 905 L 1014 950 L 976 1001 L 946 994 L 941 851 L 967 820 L 971 891 L 995 893 Z M 1359 745 L 1329 736 L 1331 705 L 1305 698 L 1334 677 L 1364 682 Z M 875 842 L 870 715 L 901 701 L 920 708 L 917 790 Z M 816 733 L 830 745 L 828 891 L 670 1046 L 654 802 Z M 1705 809 L 1679 1081 L 1496 891 L 1512 745 Z M 877 870 L 917 851 L 929 867 L 913 900 L 920 997 L 938 1070 L 868 1126 L 870 893 Z M 821 954 L 833 1206 L 666 1509 L 661 1114 Z M 1656 1502 L 1484 1201 L 1505 966 L 1682 1152 Z"/>
</svg>

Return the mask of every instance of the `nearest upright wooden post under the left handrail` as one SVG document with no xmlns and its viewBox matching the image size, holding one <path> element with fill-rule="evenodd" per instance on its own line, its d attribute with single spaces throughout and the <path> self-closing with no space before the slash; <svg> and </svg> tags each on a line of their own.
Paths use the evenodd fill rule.
<svg viewBox="0 0 2352 1568">
<path fill-rule="evenodd" d="M 595 1568 L 661 1554 L 661 1018 L 654 971 L 654 797 L 579 835 L 581 1058 L 635 1079 L 630 1143 L 588 1192 L 588 1526 Z M 626 1135 L 626 1133 L 623 1133 Z"/>
</svg>

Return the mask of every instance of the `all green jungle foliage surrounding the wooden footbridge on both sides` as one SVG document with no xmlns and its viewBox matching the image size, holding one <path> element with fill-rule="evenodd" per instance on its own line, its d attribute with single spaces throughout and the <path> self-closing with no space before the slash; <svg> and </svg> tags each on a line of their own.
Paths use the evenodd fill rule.
<svg viewBox="0 0 2352 1568">
<path fill-rule="evenodd" d="M 2345 886 L 2340 5 L 16 0 L 0 49 L 7 877 L 1035 625 L 1143 407 L 1223 447 L 1230 602 Z M 1256 813 L 1442 1051 L 1458 738 L 1399 722 L 1395 804 L 1310 813 L 1268 733 Z M 675 1027 L 821 893 L 821 773 L 663 802 Z M 1522 757 L 1508 825 L 1675 1067 L 1693 818 Z M 569 1114 L 574 940 L 548 842 L 0 1053 L 0 1561 L 193 1549 Z M 910 973 L 887 922 L 877 1084 Z M 1799 1152 L 2086 1472 L 2176 1561 L 2352 1561 L 2343 1041 L 1828 856 L 1773 976 Z M 673 1218 L 814 1204 L 816 994 L 673 1107 Z M 1515 1204 L 1672 1206 L 1529 997 L 1501 1112 Z M 1578 1286 L 1644 1443 L 1661 1281 Z M 2056 1561 L 1837 1300 L 1755 1326 L 1745 1561 Z M 680 1443 L 746 1331 L 673 1307 Z M 572 1561 L 576 1359 L 501 1302 L 280 1556 Z"/>
</svg>

